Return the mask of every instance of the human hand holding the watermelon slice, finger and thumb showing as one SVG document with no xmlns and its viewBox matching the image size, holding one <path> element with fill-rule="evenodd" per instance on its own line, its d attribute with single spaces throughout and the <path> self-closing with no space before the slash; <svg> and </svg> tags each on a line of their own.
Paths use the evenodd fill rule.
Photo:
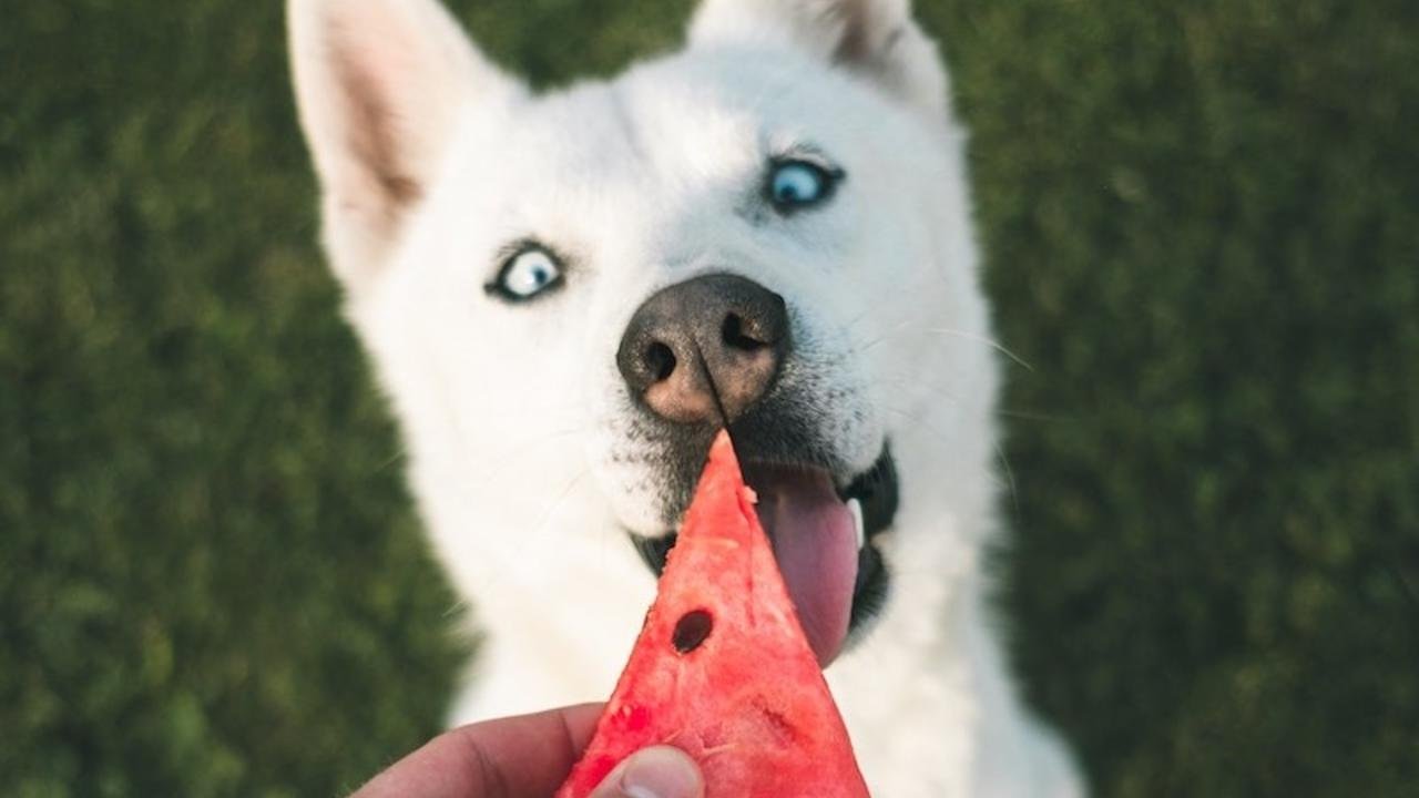
<svg viewBox="0 0 1419 798">
<path fill-rule="evenodd" d="M 586 748 L 600 704 L 464 726 L 394 763 L 350 798 L 548 798 Z M 592 798 L 702 798 L 704 778 L 678 748 L 630 755 Z"/>
</svg>

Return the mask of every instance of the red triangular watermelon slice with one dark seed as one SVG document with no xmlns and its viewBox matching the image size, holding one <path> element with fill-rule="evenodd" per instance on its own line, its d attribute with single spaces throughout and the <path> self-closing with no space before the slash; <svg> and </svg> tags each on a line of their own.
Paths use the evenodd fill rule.
<svg viewBox="0 0 1419 798">
<path fill-rule="evenodd" d="M 710 449 L 636 649 L 556 798 L 583 798 L 631 753 L 688 753 L 707 798 L 867 795 L 729 436 Z"/>
</svg>

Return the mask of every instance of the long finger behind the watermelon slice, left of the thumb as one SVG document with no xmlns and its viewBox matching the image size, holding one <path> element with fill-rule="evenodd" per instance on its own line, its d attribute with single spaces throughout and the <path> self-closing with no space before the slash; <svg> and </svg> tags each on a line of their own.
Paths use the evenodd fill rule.
<svg viewBox="0 0 1419 798">
<path fill-rule="evenodd" d="M 590 740 L 602 704 L 454 728 L 350 798 L 546 798 Z"/>
</svg>

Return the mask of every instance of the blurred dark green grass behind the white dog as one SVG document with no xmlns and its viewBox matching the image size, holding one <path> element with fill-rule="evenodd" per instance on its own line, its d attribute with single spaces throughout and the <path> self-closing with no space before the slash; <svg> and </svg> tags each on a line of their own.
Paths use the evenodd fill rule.
<svg viewBox="0 0 1419 798">
<path fill-rule="evenodd" d="M 688 0 L 458 0 L 539 84 Z M 1419 4 L 918 0 L 972 128 L 1025 683 L 1101 795 L 1419 794 Z M 278 3 L 0 24 L 0 792 L 335 795 L 470 643 Z"/>
</svg>

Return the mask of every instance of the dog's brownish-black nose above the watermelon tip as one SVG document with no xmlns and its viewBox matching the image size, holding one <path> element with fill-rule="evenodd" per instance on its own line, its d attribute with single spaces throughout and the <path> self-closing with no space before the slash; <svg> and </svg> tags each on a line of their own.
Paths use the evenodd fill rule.
<svg viewBox="0 0 1419 798">
<path fill-rule="evenodd" d="M 728 423 L 768 392 L 788 352 L 783 297 L 744 277 L 707 274 L 646 300 L 616 365 L 657 415 L 702 423 L 719 420 L 722 406 Z"/>
</svg>

